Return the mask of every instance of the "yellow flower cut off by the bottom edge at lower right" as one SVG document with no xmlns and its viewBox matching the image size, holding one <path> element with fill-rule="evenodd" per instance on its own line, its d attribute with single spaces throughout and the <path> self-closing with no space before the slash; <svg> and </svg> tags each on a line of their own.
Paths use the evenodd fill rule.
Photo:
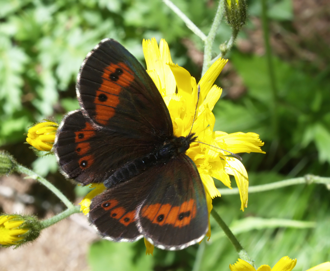
<svg viewBox="0 0 330 271">
<path fill-rule="evenodd" d="M 273 268 L 268 264 L 261 265 L 257 270 L 248 262 L 238 259 L 238 261 L 229 265 L 231 271 L 291 271 L 297 263 L 297 259 L 290 259 L 290 257 L 282 257 Z M 306 271 L 330 271 L 330 262 L 324 262 L 316 265 Z"/>
</svg>

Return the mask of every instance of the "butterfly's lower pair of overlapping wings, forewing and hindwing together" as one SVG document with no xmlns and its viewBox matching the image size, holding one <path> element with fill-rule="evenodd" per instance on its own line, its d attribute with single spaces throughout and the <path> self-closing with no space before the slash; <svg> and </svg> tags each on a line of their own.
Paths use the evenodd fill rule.
<svg viewBox="0 0 330 271">
<path fill-rule="evenodd" d="M 104 210 L 107 203 L 109 210 Z M 113 218 L 118 211 L 120 217 L 116 214 Z M 123 225 L 132 212 L 135 220 Z M 103 236 L 115 241 L 132 240 L 129 234 L 134 222 L 139 235 L 162 249 L 178 250 L 195 244 L 208 230 L 203 184 L 196 166 L 184 154 L 96 196 L 89 215 Z M 135 231 L 134 236 L 139 235 Z"/>
</svg>

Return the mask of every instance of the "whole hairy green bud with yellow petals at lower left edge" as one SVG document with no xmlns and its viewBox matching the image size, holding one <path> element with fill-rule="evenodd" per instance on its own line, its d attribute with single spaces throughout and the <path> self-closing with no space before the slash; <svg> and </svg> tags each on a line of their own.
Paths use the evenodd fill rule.
<svg viewBox="0 0 330 271">
<path fill-rule="evenodd" d="M 0 247 L 20 246 L 35 240 L 42 229 L 34 216 L 19 214 L 0 215 Z"/>
</svg>

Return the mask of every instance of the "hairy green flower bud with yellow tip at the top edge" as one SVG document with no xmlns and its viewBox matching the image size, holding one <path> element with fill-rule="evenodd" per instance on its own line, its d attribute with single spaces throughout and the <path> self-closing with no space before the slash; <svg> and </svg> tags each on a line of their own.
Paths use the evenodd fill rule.
<svg viewBox="0 0 330 271">
<path fill-rule="evenodd" d="M 224 5 L 228 24 L 239 31 L 247 19 L 246 0 L 225 0 Z"/>
</svg>

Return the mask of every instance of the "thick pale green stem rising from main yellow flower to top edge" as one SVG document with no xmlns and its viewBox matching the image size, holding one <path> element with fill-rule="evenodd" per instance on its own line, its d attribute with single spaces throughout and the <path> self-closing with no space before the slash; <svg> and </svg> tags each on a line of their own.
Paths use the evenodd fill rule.
<svg viewBox="0 0 330 271">
<path fill-rule="evenodd" d="M 210 32 L 205 40 L 202 76 L 205 74 L 205 72 L 211 66 L 213 43 L 214 43 L 216 31 L 219 28 L 222 17 L 223 17 L 223 0 L 220 0 L 218 9 L 216 11 L 216 14 L 215 14 L 215 17 L 214 17 L 214 20 L 213 20 L 213 23 L 212 23 L 212 26 L 210 29 Z"/>
</svg>

